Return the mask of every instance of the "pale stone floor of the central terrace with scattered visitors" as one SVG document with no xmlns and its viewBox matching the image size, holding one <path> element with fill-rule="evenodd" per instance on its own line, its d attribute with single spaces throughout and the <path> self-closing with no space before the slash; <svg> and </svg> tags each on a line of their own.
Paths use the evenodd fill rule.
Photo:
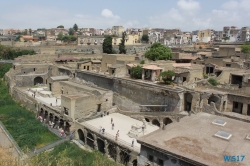
<svg viewBox="0 0 250 166">
<path fill-rule="evenodd" d="M 112 130 L 112 125 L 111 125 L 111 118 L 113 118 L 113 122 L 114 122 L 114 130 Z M 95 127 L 96 129 L 100 129 L 100 127 L 105 128 L 105 133 L 108 133 L 112 136 L 116 136 L 117 131 L 119 130 L 119 138 L 120 140 L 125 141 L 128 144 L 132 144 L 132 140 L 134 138 L 129 137 L 127 134 L 131 129 L 132 125 L 142 125 L 143 122 L 130 118 L 129 116 L 123 115 L 123 114 L 119 114 L 119 113 L 113 113 L 110 114 L 108 116 L 104 116 L 104 117 L 100 117 L 100 118 L 96 118 L 90 121 L 86 121 L 83 122 L 82 124 L 84 125 L 84 123 L 91 125 L 93 127 Z M 158 126 L 153 126 L 153 125 L 147 125 L 146 130 L 144 132 L 144 135 L 147 135 L 155 130 L 159 129 Z M 140 148 L 140 144 L 136 142 L 134 142 L 134 146 Z"/>
</svg>

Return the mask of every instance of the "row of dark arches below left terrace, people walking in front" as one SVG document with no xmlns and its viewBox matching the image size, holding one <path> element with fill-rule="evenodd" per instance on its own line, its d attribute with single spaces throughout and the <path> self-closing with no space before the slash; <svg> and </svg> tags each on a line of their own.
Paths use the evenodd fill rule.
<svg viewBox="0 0 250 166">
<path fill-rule="evenodd" d="M 39 114 L 40 116 L 42 116 L 43 119 L 46 120 L 46 123 L 48 123 L 49 121 L 54 122 L 54 128 L 59 127 L 62 128 L 65 132 L 70 133 L 69 122 L 60 119 L 58 116 L 54 116 L 53 113 L 49 113 L 47 110 L 43 110 L 43 108 L 41 108 Z"/>
</svg>

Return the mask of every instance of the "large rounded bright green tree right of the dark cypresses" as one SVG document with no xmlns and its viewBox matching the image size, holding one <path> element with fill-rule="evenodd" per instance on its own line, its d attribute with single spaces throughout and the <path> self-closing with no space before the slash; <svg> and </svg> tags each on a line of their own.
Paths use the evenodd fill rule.
<svg viewBox="0 0 250 166">
<path fill-rule="evenodd" d="M 172 52 L 170 48 L 165 47 L 161 43 L 154 43 L 145 53 L 145 57 L 153 61 L 166 60 L 172 58 Z"/>
</svg>

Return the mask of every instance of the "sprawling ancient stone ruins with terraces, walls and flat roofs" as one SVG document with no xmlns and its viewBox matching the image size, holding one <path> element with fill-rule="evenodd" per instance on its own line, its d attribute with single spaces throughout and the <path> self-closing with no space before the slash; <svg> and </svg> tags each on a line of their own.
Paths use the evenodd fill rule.
<svg viewBox="0 0 250 166">
<path fill-rule="evenodd" d="M 250 63 L 240 45 L 173 47 L 167 61 L 146 59 L 149 45 L 127 54 L 98 44 L 30 48 L 37 54 L 16 58 L 5 75 L 13 98 L 118 163 L 223 165 L 224 155 L 249 153 Z M 141 79 L 131 78 L 137 65 Z M 168 70 L 172 85 L 159 77 Z"/>
</svg>

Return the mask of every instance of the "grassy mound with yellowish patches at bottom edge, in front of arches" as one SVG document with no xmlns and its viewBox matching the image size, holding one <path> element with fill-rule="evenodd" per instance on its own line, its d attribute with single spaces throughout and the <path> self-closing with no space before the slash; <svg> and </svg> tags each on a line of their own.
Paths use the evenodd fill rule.
<svg viewBox="0 0 250 166">
<path fill-rule="evenodd" d="M 57 145 L 54 150 L 42 153 L 31 160 L 32 165 L 62 165 L 62 166 L 116 166 L 117 164 L 106 158 L 99 151 L 88 152 L 77 145 L 64 142 Z"/>
</svg>

